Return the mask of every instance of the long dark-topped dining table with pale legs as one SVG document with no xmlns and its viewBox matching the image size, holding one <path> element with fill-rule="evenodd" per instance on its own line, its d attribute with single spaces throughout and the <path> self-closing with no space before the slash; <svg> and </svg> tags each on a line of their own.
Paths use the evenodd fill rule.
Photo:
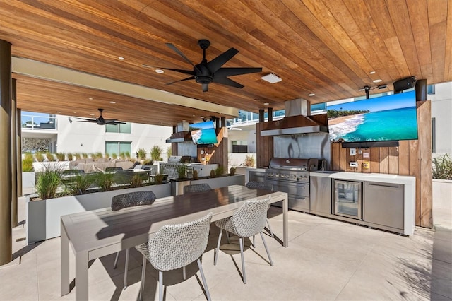
<svg viewBox="0 0 452 301">
<path fill-rule="evenodd" d="M 282 240 L 287 247 L 287 193 L 241 185 L 167 196 L 149 206 L 120 211 L 102 208 L 61 216 L 61 295 L 70 292 L 70 247 L 75 254 L 76 300 L 88 300 L 88 261 L 147 242 L 163 225 L 186 223 L 209 212 L 213 213 L 214 222 L 232 216 L 244 201 L 266 196 L 271 197 L 270 203 L 283 201 Z"/>
</svg>

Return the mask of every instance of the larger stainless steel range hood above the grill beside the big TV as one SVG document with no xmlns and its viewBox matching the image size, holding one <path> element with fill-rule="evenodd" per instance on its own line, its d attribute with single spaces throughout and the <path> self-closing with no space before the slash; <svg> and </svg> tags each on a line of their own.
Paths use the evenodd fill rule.
<svg viewBox="0 0 452 301">
<path fill-rule="evenodd" d="M 307 133 L 328 132 L 328 126 L 307 117 L 311 114 L 311 104 L 302 98 L 285 102 L 285 117 L 275 122 L 269 122 L 261 136 L 295 135 Z"/>
</svg>

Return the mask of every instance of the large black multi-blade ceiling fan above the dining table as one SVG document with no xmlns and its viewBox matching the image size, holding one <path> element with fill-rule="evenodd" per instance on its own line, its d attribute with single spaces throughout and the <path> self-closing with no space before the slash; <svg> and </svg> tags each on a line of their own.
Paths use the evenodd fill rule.
<svg viewBox="0 0 452 301">
<path fill-rule="evenodd" d="M 243 88 L 244 85 L 237 83 L 237 81 L 232 81 L 232 79 L 227 78 L 227 76 L 237 76 L 247 73 L 261 72 L 262 68 L 222 68 L 222 66 L 232 59 L 235 54 L 239 53 L 239 50 L 235 48 L 230 48 L 229 50 L 223 52 L 215 59 L 207 61 L 206 59 L 206 49 L 210 46 L 209 40 L 198 40 L 198 45 L 203 49 L 203 60 L 199 64 L 193 64 L 176 46 L 172 43 L 165 43 L 169 48 L 173 49 L 174 52 L 179 54 L 183 59 L 189 62 L 193 66 L 193 71 L 183 70 L 183 69 L 172 69 L 172 68 L 162 68 L 167 70 L 172 70 L 180 73 L 185 73 L 191 75 L 188 78 L 181 79 L 179 81 L 189 81 L 194 79 L 196 83 L 201 83 L 203 86 L 203 92 L 208 91 L 209 83 L 220 83 L 222 85 L 230 85 L 235 88 Z M 172 83 L 177 83 L 179 81 L 173 81 Z M 172 83 L 167 83 L 171 85 Z"/>
</svg>

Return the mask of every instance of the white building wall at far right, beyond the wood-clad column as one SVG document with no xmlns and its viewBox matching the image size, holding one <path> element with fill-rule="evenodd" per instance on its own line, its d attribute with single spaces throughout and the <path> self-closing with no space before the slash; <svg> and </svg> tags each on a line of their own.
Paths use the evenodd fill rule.
<svg viewBox="0 0 452 301">
<path fill-rule="evenodd" d="M 452 154 L 452 82 L 435 85 L 435 94 L 427 95 L 432 100 L 432 118 L 436 123 L 436 153 Z"/>
</svg>

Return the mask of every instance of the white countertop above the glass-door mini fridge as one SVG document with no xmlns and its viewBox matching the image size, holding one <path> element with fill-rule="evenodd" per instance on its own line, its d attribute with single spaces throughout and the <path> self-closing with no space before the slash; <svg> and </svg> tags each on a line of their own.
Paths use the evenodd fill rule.
<svg viewBox="0 0 452 301">
<path fill-rule="evenodd" d="M 415 184 L 416 178 L 412 176 L 390 175 L 379 173 L 362 173 L 362 172 L 309 172 L 312 177 L 329 177 L 331 179 L 345 179 L 350 181 L 372 181 L 393 184 Z"/>
</svg>

